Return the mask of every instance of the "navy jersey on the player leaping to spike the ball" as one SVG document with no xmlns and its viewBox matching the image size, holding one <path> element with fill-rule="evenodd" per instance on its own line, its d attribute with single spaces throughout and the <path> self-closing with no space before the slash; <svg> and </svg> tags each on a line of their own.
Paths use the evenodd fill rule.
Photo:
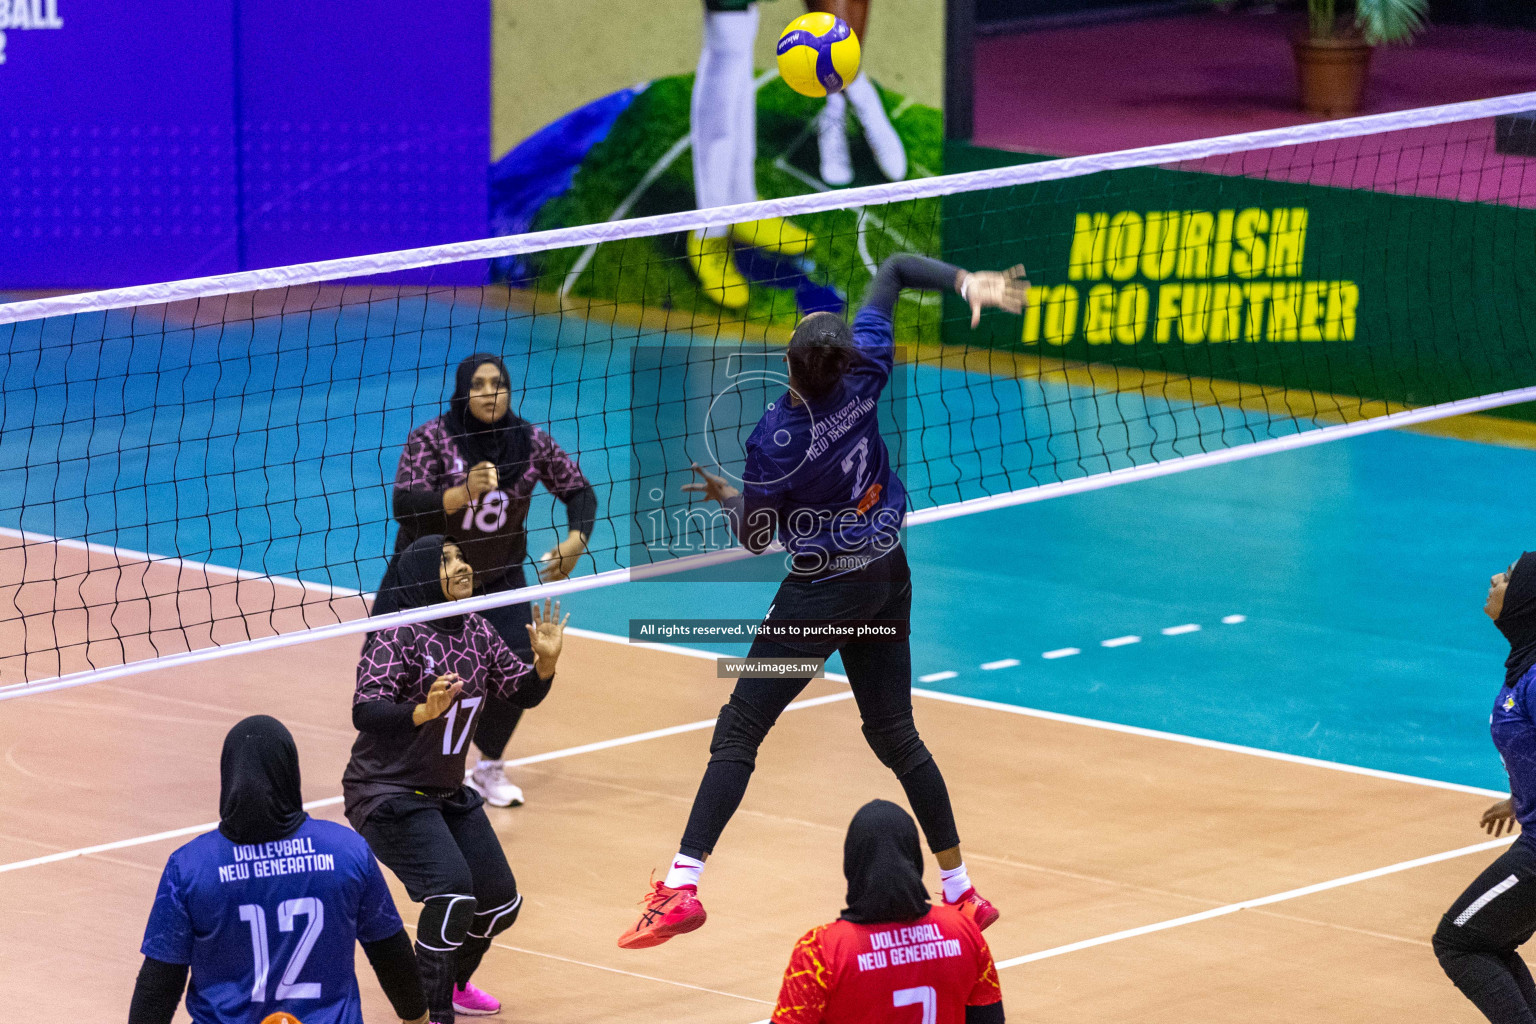
<svg viewBox="0 0 1536 1024">
<path fill-rule="evenodd" d="M 837 554 L 883 554 L 906 511 L 877 410 L 895 361 L 891 313 L 860 309 L 852 339 L 859 359 L 829 395 L 814 405 L 785 395 L 746 439 L 745 533 L 771 516 L 796 563 L 814 570 Z"/>
</svg>

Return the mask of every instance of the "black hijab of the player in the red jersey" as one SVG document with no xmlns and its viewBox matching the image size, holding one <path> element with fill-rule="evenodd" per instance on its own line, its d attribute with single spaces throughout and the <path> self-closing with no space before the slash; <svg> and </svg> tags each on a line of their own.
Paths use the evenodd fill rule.
<svg viewBox="0 0 1536 1024">
<path fill-rule="evenodd" d="M 848 824 L 843 875 L 848 878 L 845 921 L 915 921 L 929 910 L 917 823 L 889 800 L 871 800 Z"/>
</svg>

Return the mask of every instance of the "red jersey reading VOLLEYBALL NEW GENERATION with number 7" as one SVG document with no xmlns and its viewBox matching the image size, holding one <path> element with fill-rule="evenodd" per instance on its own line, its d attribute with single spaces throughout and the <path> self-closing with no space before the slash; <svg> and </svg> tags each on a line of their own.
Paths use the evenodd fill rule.
<svg viewBox="0 0 1536 1024">
<path fill-rule="evenodd" d="M 992 950 L 954 907 L 915 921 L 833 921 L 794 944 L 773 1024 L 965 1024 L 1003 999 Z"/>
</svg>

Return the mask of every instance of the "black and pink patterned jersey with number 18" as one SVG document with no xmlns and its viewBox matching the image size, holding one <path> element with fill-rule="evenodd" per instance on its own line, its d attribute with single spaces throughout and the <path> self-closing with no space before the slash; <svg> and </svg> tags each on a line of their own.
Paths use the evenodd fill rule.
<svg viewBox="0 0 1536 1024">
<path fill-rule="evenodd" d="M 464 453 L 442 416 L 410 431 L 395 471 L 395 514 L 401 520 L 395 550 L 401 551 L 429 533 L 450 536 L 459 542 L 464 560 L 487 588 L 495 588 L 501 576 L 521 567 L 528 554 L 527 519 L 533 487 L 544 484 L 565 502 L 590 487 L 576 461 L 550 434 L 531 424 L 525 428 L 530 457 L 522 471 L 513 479 L 498 481 L 496 490 L 453 516 L 442 510 L 442 491 L 461 487 L 468 476 Z M 591 533 L 590 522 L 573 520 L 573 528 Z"/>
</svg>

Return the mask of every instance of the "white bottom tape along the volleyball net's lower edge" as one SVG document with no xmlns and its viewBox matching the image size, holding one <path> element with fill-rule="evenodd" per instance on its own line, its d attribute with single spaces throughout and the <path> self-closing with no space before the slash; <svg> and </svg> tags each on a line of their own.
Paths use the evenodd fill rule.
<svg viewBox="0 0 1536 1024">
<path fill-rule="evenodd" d="M 1536 97 L 1533 97 L 1533 101 L 1536 101 Z M 1312 445 L 1326 444 L 1330 441 L 1342 441 L 1346 438 L 1358 438 L 1381 430 L 1395 430 L 1398 427 L 1407 427 L 1412 424 L 1422 424 L 1435 419 L 1447 419 L 1450 416 L 1462 416 L 1465 413 L 1482 411 L 1487 408 L 1501 408 L 1504 405 L 1518 405 L 1521 402 L 1530 402 L 1530 401 L 1536 401 L 1536 387 L 1498 391 L 1495 395 L 1482 395 L 1479 398 L 1458 399 L 1455 402 L 1442 402 L 1439 405 L 1425 405 L 1424 408 L 1410 408 L 1401 413 L 1372 416 L 1370 419 L 1362 419 L 1350 424 L 1330 424 L 1327 427 L 1316 427 L 1313 430 L 1304 430 L 1301 433 L 1286 434 L 1284 438 L 1267 438 L 1264 441 L 1240 444 L 1232 448 L 1220 448 L 1217 451 L 1201 451 L 1198 454 L 1177 456 L 1174 459 L 1164 459 L 1163 462 L 1149 462 L 1146 465 L 1134 465 L 1121 470 L 1109 470 L 1106 473 L 1097 473 L 1074 481 L 1063 481 L 1058 484 L 1038 484 L 1035 487 L 1029 487 L 1018 491 L 1009 491 L 1006 494 L 991 494 L 986 497 L 972 497 L 963 502 L 954 502 L 951 505 L 938 505 L 935 508 L 920 508 L 917 511 L 911 511 L 906 514 L 906 525 L 919 527 L 931 522 L 943 522 L 945 519 L 955 519 L 958 516 L 971 516 L 982 511 L 1012 508 L 1015 505 L 1029 505 L 1034 502 L 1049 500 L 1052 497 L 1066 497 L 1068 494 L 1083 494 L 1086 491 L 1097 491 L 1106 487 L 1117 487 L 1120 484 L 1130 484 L 1135 481 L 1150 481 L 1160 476 L 1172 476 L 1174 473 L 1186 473 L 1189 470 L 1200 470 L 1212 465 L 1224 465 L 1227 462 L 1256 459 L 1264 454 L 1292 451 L 1296 448 L 1309 448 Z M 779 548 L 776 542 L 774 547 L 768 548 L 765 554 L 774 554 L 779 551 L 782 551 L 782 548 Z M 315 640 L 329 640 L 335 637 L 356 636 L 359 633 L 372 633 L 375 629 L 386 629 L 389 626 L 399 626 L 412 622 L 429 622 L 444 614 L 464 614 L 472 611 L 485 611 L 487 608 L 499 608 L 502 605 L 515 605 L 522 602 L 545 600 L 551 597 L 564 597 L 565 594 L 576 594 L 585 590 L 598 590 L 599 586 L 611 586 L 614 583 L 625 583 L 631 580 L 645 580 L 660 576 L 673 576 L 676 573 L 687 573 L 690 570 L 742 562 L 751 557 L 759 557 L 759 556 L 753 554 L 746 548 L 727 548 L 722 551 L 708 551 L 703 554 L 687 554 L 679 559 L 671 559 L 668 562 L 645 565 L 633 570 L 608 570 L 607 573 L 594 573 L 593 576 L 579 576 L 576 579 L 565 579 L 556 583 L 535 583 L 533 586 L 519 591 L 505 591 L 499 594 L 481 594 L 479 597 L 465 597 L 464 600 L 452 603 L 452 613 L 449 611 L 445 602 L 444 605 L 412 608 L 409 611 L 396 611 L 387 616 L 376 616 L 372 619 L 352 619 L 346 622 L 335 622 L 324 626 L 312 626 L 309 629 L 303 629 L 298 633 L 281 633 L 270 637 L 260 637 L 257 640 L 240 640 L 221 646 L 200 648 L 197 651 L 181 651 L 177 654 L 166 654 L 163 657 L 155 657 L 155 659 L 143 659 L 138 662 L 129 662 L 126 665 L 94 668 L 83 672 L 58 676 L 55 679 L 35 683 L 11 683 L 9 686 L 0 686 L 0 700 L 12 700 L 15 697 L 46 694 L 55 689 L 69 689 L 72 686 L 100 683 L 109 679 L 123 679 L 126 676 L 138 676 L 141 672 L 152 672 L 166 668 L 180 668 L 183 665 L 197 665 L 201 662 L 210 662 L 221 657 L 233 657 L 237 654 L 275 651 L 280 648 L 295 646 L 300 643 L 312 643 Z M 269 577 L 255 574 L 255 579 L 269 579 Z"/>
</svg>

